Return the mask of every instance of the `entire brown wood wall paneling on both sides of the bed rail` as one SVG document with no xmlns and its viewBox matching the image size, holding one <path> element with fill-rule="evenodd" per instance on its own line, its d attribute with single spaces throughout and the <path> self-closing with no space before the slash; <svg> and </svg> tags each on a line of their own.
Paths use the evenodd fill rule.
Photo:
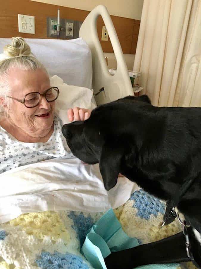
<svg viewBox="0 0 201 269">
<path fill-rule="evenodd" d="M 29 0 L 1 0 L 0 9 L 0 37 L 10 38 L 21 36 L 24 38 L 48 38 L 46 18 L 57 17 L 57 8 L 60 8 L 61 18 L 83 22 L 89 11 L 45 4 Z M 35 16 L 35 35 L 18 32 L 18 14 Z M 118 16 L 111 16 L 116 29 L 123 53 L 135 54 L 140 21 Z M 104 52 L 113 52 L 110 39 L 101 41 L 102 26 L 101 17 L 97 20 L 99 40 Z"/>
</svg>

